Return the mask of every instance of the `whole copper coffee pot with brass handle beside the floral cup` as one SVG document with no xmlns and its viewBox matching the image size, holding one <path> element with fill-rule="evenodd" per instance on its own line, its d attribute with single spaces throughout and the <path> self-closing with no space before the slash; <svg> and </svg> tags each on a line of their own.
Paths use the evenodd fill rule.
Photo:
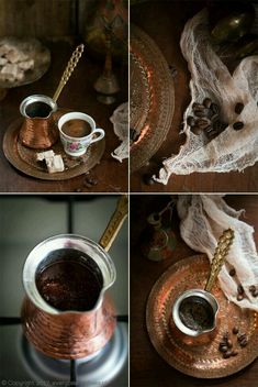
<svg viewBox="0 0 258 387">
<path fill-rule="evenodd" d="M 23 145 L 35 150 L 46 150 L 57 141 L 58 130 L 53 117 L 57 110 L 56 101 L 77 66 L 83 48 L 83 44 L 80 44 L 72 53 L 53 98 L 33 95 L 22 101 L 20 112 L 24 121 L 20 130 L 20 140 Z"/>
</svg>

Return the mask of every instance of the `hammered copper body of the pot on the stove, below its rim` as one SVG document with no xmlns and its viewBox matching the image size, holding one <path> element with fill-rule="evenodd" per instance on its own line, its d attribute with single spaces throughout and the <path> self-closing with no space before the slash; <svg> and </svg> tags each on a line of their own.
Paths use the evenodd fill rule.
<svg viewBox="0 0 258 387">
<path fill-rule="evenodd" d="M 23 332 L 44 354 L 56 358 L 79 358 L 101 350 L 111 339 L 115 310 L 105 296 L 102 306 L 87 313 L 49 314 L 29 298 L 22 307 Z"/>
</svg>

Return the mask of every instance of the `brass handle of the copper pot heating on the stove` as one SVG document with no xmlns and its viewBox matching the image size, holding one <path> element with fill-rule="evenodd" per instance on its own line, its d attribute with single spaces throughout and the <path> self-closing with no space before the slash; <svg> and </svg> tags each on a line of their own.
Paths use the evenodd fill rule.
<svg viewBox="0 0 258 387">
<path fill-rule="evenodd" d="M 106 252 L 110 250 L 127 214 L 128 198 L 126 195 L 123 195 L 119 199 L 117 207 L 99 242 Z"/>
</svg>

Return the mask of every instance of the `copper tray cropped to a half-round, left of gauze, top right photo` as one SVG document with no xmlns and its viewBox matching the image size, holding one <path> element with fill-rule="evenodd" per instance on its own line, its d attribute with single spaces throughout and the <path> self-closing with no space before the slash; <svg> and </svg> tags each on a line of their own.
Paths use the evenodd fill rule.
<svg viewBox="0 0 258 387">
<path fill-rule="evenodd" d="M 158 151 L 172 122 L 175 95 L 169 66 L 156 43 L 131 26 L 131 122 L 139 137 L 131 146 L 131 172 Z"/>
</svg>

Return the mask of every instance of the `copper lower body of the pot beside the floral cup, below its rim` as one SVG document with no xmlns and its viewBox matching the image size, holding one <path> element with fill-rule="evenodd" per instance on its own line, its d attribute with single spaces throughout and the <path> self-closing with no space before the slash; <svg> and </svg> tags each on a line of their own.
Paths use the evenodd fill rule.
<svg viewBox="0 0 258 387">
<path fill-rule="evenodd" d="M 57 139 L 58 129 L 53 115 L 48 119 L 25 118 L 19 134 L 21 143 L 34 150 L 47 150 Z"/>
</svg>

